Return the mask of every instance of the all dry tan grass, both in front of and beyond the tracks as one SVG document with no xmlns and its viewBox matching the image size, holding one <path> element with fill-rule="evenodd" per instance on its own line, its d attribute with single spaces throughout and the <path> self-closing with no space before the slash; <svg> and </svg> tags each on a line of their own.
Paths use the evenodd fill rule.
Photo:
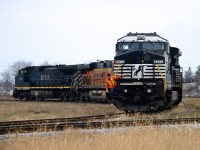
<svg viewBox="0 0 200 150">
<path fill-rule="evenodd" d="M 111 104 L 92 103 L 58 103 L 58 102 L 25 102 L 0 100 L 0 121 L 39 118 L 84 116 L 119 112 Z M 170 110 L 151 114 L 134 114 L 121 116 L 162 118 L 200 116 L 200 98 L 184 98 L 179 106 Z M 183 126 L 136 127 L 128 131 L 114 129 L 104 133 L 90 130 L 67 129 L 62 135 L 40 137 L 16 137 L 0 142 L 0 150 L 198 150 L 200 147 L 200 128 Z"/>
</svg>

